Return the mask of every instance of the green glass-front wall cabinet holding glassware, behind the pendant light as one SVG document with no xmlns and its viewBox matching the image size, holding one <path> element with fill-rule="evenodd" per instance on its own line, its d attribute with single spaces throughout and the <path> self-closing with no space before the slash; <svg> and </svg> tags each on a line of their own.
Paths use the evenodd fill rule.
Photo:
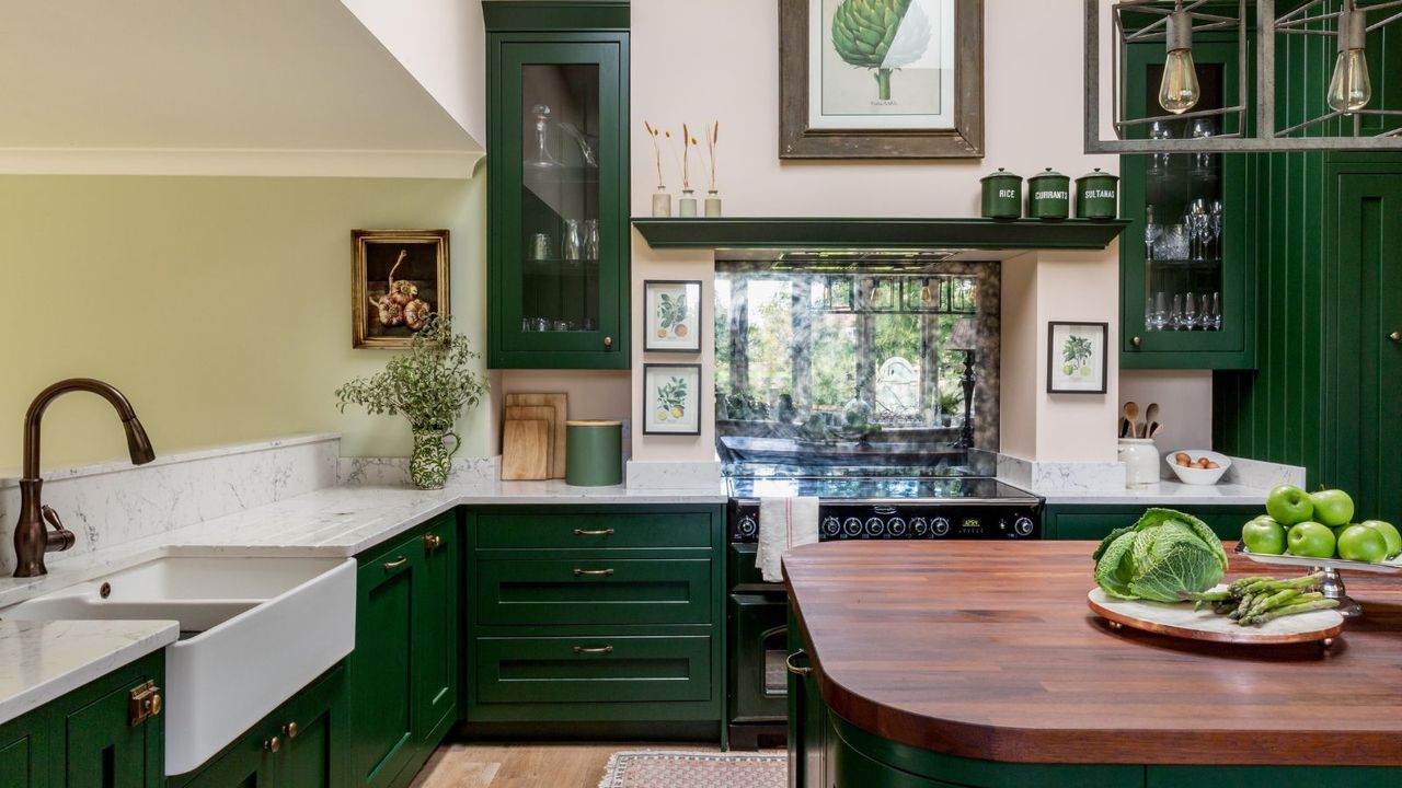
<svg viewBox="0 0 1402 788">
<path fill-rule="evenodd" d="M 1237 45 L 1195 36 L 1199 108 L 1238 101 Z M 1158 107 L 1164 45 L 1129 48 L 1127 104 L 1136 116 Z M 1138 136 L 1192 137 L 1237 130 L 1232 119 L 1140 126 Z M 1245 156 L 1120 157 L 1120 366 L 1245 369 L 1256 363 L 1253 160 Z"/>
</svg>

